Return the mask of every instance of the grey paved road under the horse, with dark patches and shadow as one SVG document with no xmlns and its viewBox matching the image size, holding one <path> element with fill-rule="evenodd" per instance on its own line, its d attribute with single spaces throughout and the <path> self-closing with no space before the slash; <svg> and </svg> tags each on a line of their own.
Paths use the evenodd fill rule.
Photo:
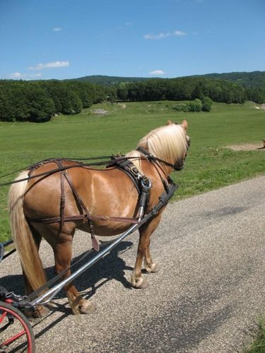
<svg viewBox="0 0 265 353">
<path fill-rule="evenodd" d="M 61 294 L 56 310 L 33 322 L 38 352 L 240 351 L 265 313 L 264 213 L 265 176 L 168 205 L 153 234 L 160 272 L 146 275 L 149 287 L 129 287 L 131 234 L 76 281 L 97 300 L 95 313 L 72 316 Z M 84 239 L 77 234 L 76 258 Z M 52 276 L 47 246 L 42 258 Z M 0 277 L 21 293 L 17 263 L 16 256 L 1 263 Z"/>
</svg>

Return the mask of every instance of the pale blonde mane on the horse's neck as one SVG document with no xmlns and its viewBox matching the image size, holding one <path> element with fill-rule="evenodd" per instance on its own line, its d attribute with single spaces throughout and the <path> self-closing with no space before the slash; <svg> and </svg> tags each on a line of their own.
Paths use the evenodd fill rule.
<svg viewBox="0 0 265 353">
<path fill-rule="evenodd" d="M 184 158 L 187 151 L 187 137 L 182 125 L 169 124 L 155 128 L 146 136 L 141 138 L 137 148 L 143 147 L 160 160 L 175 164 L 177 160 Z M 136 150 L 129 152 L 126 157 L 143 157 Z M 141 160 L 131 160 L 141 171 Z"/>
</svg>

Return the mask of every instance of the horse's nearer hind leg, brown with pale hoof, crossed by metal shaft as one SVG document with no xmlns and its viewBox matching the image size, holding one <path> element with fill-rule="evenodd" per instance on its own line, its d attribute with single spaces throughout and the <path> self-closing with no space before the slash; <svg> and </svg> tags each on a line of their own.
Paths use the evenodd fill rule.
<svg viewBox="0 0 265 353">
<path fill-rule="evenodd" d="M 55 271 L 60 273 L 61 271 L 69 268 L 72 257 L 72 241 L 73 234 L 61 233 L 59 242 L 54 244 L 54 259 L 55 259 Z M 71 275 L 71 270 L 67 270 L 64 273 L 62 279 L 65 279 Z M 83 299 L 79 294 L 76 287 L 70 282 L 64 286 L 66 290 L 69 306 L 71 307 L 74 314 L 79 313 L 93 313 L 96 309 L 95 301 Z"/>
</svg>

